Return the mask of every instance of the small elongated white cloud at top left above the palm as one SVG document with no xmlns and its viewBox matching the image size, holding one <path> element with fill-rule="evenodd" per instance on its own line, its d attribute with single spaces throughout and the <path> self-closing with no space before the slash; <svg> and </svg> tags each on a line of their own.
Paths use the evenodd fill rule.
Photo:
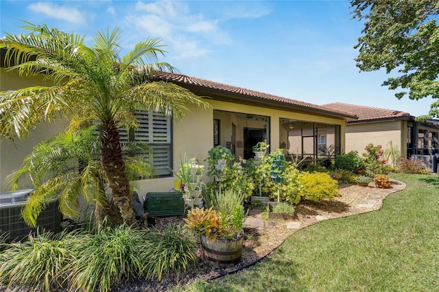
<svg viewBox="0 0 439 292">
<path fill-rule="evenodd" d="M 58 6 L 52 2 L 36 2 L 30 4 L 28 8 L 33 12 L 44 14 L 52 19 L 60 19 L 75 24 L 84 24 L 86 22 L 84 14 L 77 9 L 67 6 Z"/>
</svg>

